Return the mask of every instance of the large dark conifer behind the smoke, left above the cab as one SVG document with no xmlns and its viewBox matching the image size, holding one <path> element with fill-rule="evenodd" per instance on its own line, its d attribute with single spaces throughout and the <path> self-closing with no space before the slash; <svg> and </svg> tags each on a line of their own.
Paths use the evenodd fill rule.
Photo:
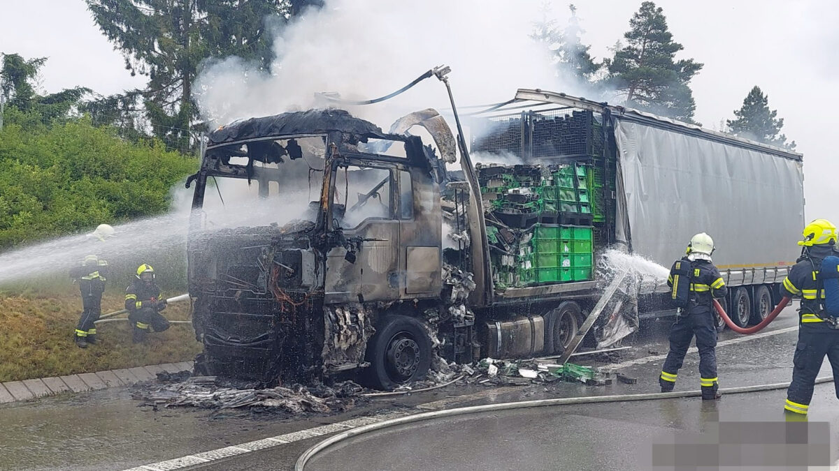
<svg viewBox="0 0 839 471">
<path fill-rule="evenodd" d="M 268 64 L 266 19 L 288 18 L 284 0 L 86 0 L 102 32 L 122 51 L 143 90 L 109 97 L 126 109 L 142 102 L 154 135 L 187 148 L 198 116 L 192 82 L 203 60 L 237 54 Z"/>
</svg>

